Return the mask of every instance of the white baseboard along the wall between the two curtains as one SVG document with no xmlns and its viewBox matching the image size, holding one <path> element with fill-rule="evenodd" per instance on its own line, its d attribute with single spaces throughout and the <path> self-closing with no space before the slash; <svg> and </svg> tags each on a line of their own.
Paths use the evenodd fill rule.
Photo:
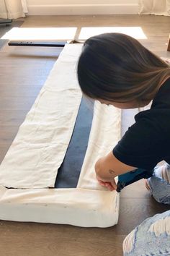
<svg viewBox="0 0 170 256">
<path fill-rule="evenodd" d="M 138 14 L 138 4 L 29 5 L 29 15 Z"/>
</svg>

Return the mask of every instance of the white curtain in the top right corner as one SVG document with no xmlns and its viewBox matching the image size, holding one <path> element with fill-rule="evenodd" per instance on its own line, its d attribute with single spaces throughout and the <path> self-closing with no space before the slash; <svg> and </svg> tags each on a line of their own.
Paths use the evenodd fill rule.
<svg viewBox="0 0 170 256">
<path fill-rule="evenodd" d="M 170 16 L 170 0 L 139 0 L 138 14 Z"/>
</svg>

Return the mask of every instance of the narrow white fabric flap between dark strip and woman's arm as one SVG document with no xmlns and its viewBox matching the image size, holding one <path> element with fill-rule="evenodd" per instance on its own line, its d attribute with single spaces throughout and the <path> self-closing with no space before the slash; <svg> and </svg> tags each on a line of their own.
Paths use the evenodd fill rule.
<svg viewBox="0 0 170 256">
<path fill-rule="evenodd" d="M 120 121 L 120 109 L 101 104 L 99 101 L 94 103 L 94 116 L 88 147 L 77 187 L 101 189 L 95 176 L 94 165 L 100 157 L 112 151 L 120 140 Z"/>
</svg>

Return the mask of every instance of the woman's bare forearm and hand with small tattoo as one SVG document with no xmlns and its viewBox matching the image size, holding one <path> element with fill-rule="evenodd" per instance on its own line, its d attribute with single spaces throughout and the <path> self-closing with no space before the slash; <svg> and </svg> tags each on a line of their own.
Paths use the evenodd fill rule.
<svg viewBox="0 0 170 256">
<path fill-rule="evenodd" d="M 128 166 L 120 162 L 112 152 L 108 155 L 99 158 L 95 164 L 95 171 L 99 184 L 108 187 L 108 189 L 116 189 L 115 177 L 120 174 L 125 174 L 128 171 L 133 171 L 137 167 Z"/>
</svg>

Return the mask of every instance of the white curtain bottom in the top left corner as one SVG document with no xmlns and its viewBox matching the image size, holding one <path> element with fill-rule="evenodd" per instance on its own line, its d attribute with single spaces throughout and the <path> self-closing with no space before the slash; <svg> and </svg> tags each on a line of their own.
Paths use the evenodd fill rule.
<svg viewBox="0 0 170 256">
<path fill-rule="evenodd" d="M 27 13 L 26 0 L 0 0 L 0 18 L 17 19 Z"/>
</svg>

